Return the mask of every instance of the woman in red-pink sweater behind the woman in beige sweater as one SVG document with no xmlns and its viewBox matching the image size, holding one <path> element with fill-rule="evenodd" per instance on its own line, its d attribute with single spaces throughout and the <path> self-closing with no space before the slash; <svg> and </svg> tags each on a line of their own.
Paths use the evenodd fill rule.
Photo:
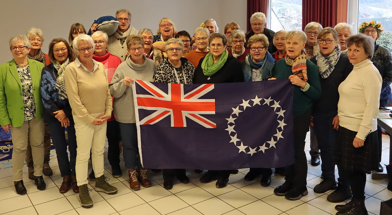
<svg viewBox="0 0 392 215">
<path fill-rule="evenodd" d="M 96 31 L 91 35 L 91 38 L 93 38 L 95 45 L 93 59 L 103 64 L 107 72 L 107 80 L 110 83 L 112 81 L 114 71 L 116 71 L 118 65 L 120 65 L 121 60 L 106 50 L 108 44 L 108 36 L 106 33 Z M 109 145 L 107 148 L 107 159 L 112 167 L 112 176 L 114 178 L 118 178 L 122 175 L 119 148 L 120 128 L 118 127 L 118 123 L 113 114 L 112 117 L 107 120 L 106 137 Z"/>
</svg>

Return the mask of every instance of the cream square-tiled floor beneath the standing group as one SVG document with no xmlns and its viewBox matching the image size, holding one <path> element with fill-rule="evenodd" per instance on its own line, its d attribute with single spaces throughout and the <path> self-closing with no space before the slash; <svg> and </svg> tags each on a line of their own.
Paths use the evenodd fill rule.
<svg viewBox="0 0 392 215">
<path fill-rule="evenodd" d="M 309 135 L 309 134 L 308 134 Z M 307 137 L 309 141 L 309 136 Z M 389 138 L 383 137 L 382 162 L 388 163 Z M 309 150 L 309 142 L 305 146 Z M 54 152 L 54 150 L 53 150 Z M 55 152 L 54 152 L 55 154 Z M 307 152 L 308 159 L 310 159 Z M 129 189 L 128 177 L 123 171 L 123 176 L 113 178 L 110 164 L 105 156 L 105 176 L 109 177 L 110 184 L 118 188 L 115 195 L 95 192 L 94 182 L 90 182 L 90 192 L 94 201 L 93 208 L 85 209 L 80 206 L 77 195 L 68 191 L 65 194 L 58 192 L 62 178 L 57 166 L 55 156 L 51 157 L 51 166 L 54 174 L 46 177 L 47 188 L 38 191 L 34 182 L 27 177 L 27 167 L 24 168 L 24 182 L 27 195 L 15 193 L 12 182 L 11 168 L 0 169 L 0 214 L 15 215 L 52 215 L 52 214 L 143 214 L 143 215 L 241 215 L 241 214 L 265 214 L 265 215 L 328 215 L 335 214 L 336 204 L 327 201 L 327 193 L 318 194 L 313 188 L 321 179 L 321 166 L 308 166 L 308 191 L 309 194 L 300 200 L 289 201 L 284 197 L 274 195 L 273 190 L 284 182 L 280 175 L 273 175 L 270 187 L 260 186 L 260 177 L 255 181 L 244 181 L 243 177 L 248 169 L 241 169 L 240 173 L 230 176 L 226 188 L 215 188 L 215 182 L 200 184 L 199 178 L 203 174 L 196 174 L 188 170 L 189 184 L 175 182 L 172 190 L 163 188 L 162 172 L 149 172 L 152 179 L 150 188 L 142 188 L 138 191 Z M 122 161 L 122 167 L 125 169 Z M 337 172 L 336 172 L 337 175 Z M 380 202 L 392 198 L 392 192 L 387 190 L 387 180 L 372 180 L 367 176 L 366 183 L 366 206 L 369 214 L 379 214 Z"/>
</svg>

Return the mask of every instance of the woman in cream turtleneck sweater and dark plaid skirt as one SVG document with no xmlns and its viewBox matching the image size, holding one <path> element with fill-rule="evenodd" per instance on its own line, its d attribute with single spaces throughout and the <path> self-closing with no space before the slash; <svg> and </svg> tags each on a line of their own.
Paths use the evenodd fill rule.
<svg viewBox="0 0 392 215">
<path fill-rule="evenodd" d="M 366 174 L 377 169 L 377 114 L 382 78 L 373 65 L 374 40 L 363 34 L 347 39 L 347 56 L 354 69 L 339 85 L 339 130 L 336 163 L 348 172 L 352 199 L 337 205 L 338 215 L 368 214 Z"/>
</svg>

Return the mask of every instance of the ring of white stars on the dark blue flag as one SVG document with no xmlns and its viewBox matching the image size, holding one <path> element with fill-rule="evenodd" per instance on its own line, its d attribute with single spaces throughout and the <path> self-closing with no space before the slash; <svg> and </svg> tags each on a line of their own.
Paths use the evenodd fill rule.
<svg viewBox="0 0 392 215">
<path fill-rule="evenodd" d="M 262 103 L 263 101 L 264 103 Z M 250 102 L 252 101 L 252 102 Z M 258 98 L 257 95 L 254 99 L 249 99 L 247 101 L 245 101 L 244 99 L 242 99 L 242 103 L 240 105 L 238 105 L 236 108 L 232 108 L 233 112 L 230 114 L 229 118 L 226 118 L 227 120 L 227 128 L 225 130 L 227 130 L 229 132 L 229 136 L 230 136 L 230 142 L 229 143 L 234 143 L 234 145 L 238 148 L 238 153 L 245 153 L 245 154 L 250 154 L 250 156 L 252 156 L 253 154 L 257 153 L 257 152 L 265 152 L 265 150 L 269 149 L 269 148 L 276 148 L 276 143 L 278 143 L 279 139 L 283 139 L 284 137 L 282 136 L 282 132 L 283 132 L 283 126 L 287 125 L 286 123 L 284 123 L 284 113 L 286 112 L 286 110 L 283 110 L 280 105 L 279 105 L 280 101 L 275 101 L 274 99 L 268 98 Z M 250 103 L 252 105 L 250 105 Z M 266 141 L 265 143 L 263 143 L 263 145 L 261 146 L 256 146 L 255 148 L 252 148 L 250 146 L 247 145 L 243 145 L 243 141 L 241 141 L 240 139 L 237 138 L 237 132 L 236 130 L 234 130 L 234 126 L 236 126 L 235 120 L 239 117 L 239 114 L 243 111 L 246 110 L 247 107 L 252 108 L 256 105 L 268 105 L 271 108 L 274 108 L 274 113 L 277 114 L 276 117 L 276 121 L 278 121 L 279 125 L 276 127 L 276 134 L 272 135 L 271 140 L 270 141 Z M 242 107 L 242 108 L 240 108 Z M 242 110 L 241 110 L 242 109 Z M 233 115 L 235 115 L 233 117 Z M 238 144 L 237 144 L 238 142 Z"/>
</svg>

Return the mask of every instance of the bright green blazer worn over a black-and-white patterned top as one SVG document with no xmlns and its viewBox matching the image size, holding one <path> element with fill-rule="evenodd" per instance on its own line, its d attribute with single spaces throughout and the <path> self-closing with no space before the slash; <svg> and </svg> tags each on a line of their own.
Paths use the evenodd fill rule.
<svg viewBox="0 0 392 215">
<path fill-rule="evenodd" d="M 31 79 L 33 81 L 33 95 L 36 107 L 36 119 L 44 116 L 40 83 L 41 72 L 44 64 L 28 59 Z M 12 124 L 14 127 L 22 126 L 24 121 L 24 108 L 22 96 L 22 83 L 15 60 L 0 65 L 0 125 Z"/>
</svg>

